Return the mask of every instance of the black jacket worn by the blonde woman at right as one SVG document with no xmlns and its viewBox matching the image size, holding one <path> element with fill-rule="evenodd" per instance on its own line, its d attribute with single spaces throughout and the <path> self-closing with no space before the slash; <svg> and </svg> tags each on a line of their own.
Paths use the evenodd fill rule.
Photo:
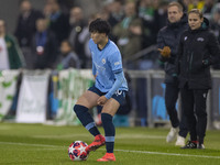
<svg viewBox="0 0 220 165">
<path fill-rule="evenodd" d="M 210 65 L 220 61 L 219 43 L 208 30 L 208 20 L 200 29 L 190 29 L 183 33 L 179 42 L 176 66 L 179 74 L 179 87 L 186 82 L 190 89 L 210 89 Z M 206 61 L 206 65 L 202 63 Z"/>
</svg>

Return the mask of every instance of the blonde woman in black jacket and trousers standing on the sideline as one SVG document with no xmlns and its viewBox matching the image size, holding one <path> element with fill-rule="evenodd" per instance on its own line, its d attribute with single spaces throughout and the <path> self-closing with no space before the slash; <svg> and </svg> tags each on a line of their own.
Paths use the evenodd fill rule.
<svg viewBox="0 0 220 165">
<path fill-rule="evenodd" d="M 182 148 L 205 148 L 210 65 L 219 63 L 220 47 L 208 29 L 208 20 L 198 9 L 189 11 L 188 24 L 189 30 L 180 37 L 176 62 L 182 105 L 190 133 L 190 140 Z"/>
</svg>

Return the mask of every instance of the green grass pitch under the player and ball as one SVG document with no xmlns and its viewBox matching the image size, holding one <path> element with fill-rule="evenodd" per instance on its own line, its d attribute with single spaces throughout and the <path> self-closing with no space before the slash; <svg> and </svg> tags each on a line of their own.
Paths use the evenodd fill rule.
<svg viewBox="0 0 220 165">
<path fill-rule="evenodd" d="M 99 128 L 103 134 L 103 129 Z M 220 165 L 220 131 L 207 131 L 206 150 L 180 150 L 166 143 L 168 129 L 117 128 L 117 162 L 97 162 L 105 146 L 91 152 L 87 161 L 73 162 L 68 145 L 74 141 L 91 143 L 82 127 L 0 123 L 0 164 L 2 165 Z"/>
</svg>

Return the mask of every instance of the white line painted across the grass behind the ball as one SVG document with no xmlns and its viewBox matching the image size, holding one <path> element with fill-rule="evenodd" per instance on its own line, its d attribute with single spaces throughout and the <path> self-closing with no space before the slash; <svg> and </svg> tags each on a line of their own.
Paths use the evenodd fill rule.
<svg viewBox="0 0 220 165">
<path fill-rule="evenodd" d="M 58 146 L 58 145 L 13 143 L 13 142 L 0 142 L 0 144 L 28 145 L 28 146 L 46 146 L 46 147 L 63 147 L 63 148 L 64 147 L 68 147 L 68 146 Z M 105 148 L 102 148 L 102 150 L 105 150 Z M 114 150 L 114 151 L 124 152 L 124 153 L 139 153 L 139 154 L 152 154 L 152 155 L 185 156 L 185 157 L 199 157 L 199 158 L 217 158 L 217 160 L 220 160 L 220 156 L 208 156 L 208 155 L 189 155 L 189 154 L 161 153 L 161 152 L 150 152 L 150 151 L 131 151 L 131 150 Z"/>
</svg>

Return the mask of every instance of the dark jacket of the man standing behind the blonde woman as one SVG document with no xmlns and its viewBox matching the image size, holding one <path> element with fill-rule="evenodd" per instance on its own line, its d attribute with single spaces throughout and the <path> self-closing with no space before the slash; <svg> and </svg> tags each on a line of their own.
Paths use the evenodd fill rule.
<svg viewBox="0 0 220 165">
<path fill-rule="evenodd" d="M 165 82 L 173 82 L 172 75 L 175 73 L 175 61 L 178 52 L 178 43 L 180 35 L 184 31 L 188 29 L 187 15 L 184 14 L 182 20 L 176 23 L 169 23 L 167 20 L 167 25 L 160 30 L 157 34 L 157 47 L 163 48 L 164 46 L 169 46 L 172 50 L 170 58 L 164 61 L 160 55 L 161 62 L 165 63 Z"/>
</svg>

